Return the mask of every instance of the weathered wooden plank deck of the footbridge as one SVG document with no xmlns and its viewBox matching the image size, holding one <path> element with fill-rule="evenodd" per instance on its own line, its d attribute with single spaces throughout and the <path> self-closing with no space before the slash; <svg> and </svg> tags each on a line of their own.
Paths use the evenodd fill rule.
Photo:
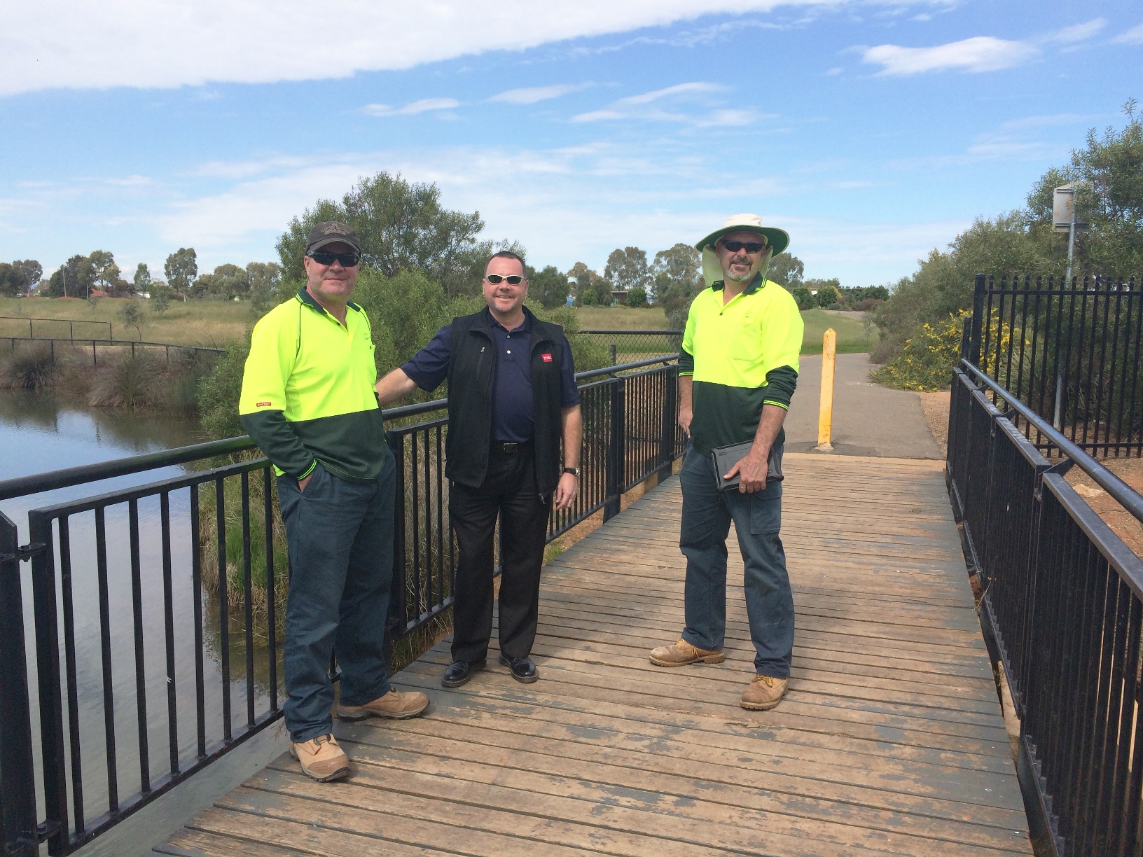
<svg viewBox="0 0 1143 857">
<path fill-rule="evenodd" d="M 336 727 L 349 780 L 282 756 L 153 854 L 1031 854 L 941 464 L 785 464 L 797 638 L 774 711 L 738 706 L 733 532 L 726 663 L 647 660 L 682 624 L 671 479 L 547 566 L 539 682 L 490 660 L 443 690 L 438 646 L 397 678 L 423 719 Z"/>
</svg>

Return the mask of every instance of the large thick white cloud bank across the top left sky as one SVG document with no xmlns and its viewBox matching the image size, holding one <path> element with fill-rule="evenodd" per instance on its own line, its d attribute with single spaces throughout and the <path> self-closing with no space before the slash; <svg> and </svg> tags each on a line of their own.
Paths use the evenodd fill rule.
<svg viewBox="0 0 1143 857">
<path fill-rule="evenodd" d="M 54 87 L 178 87 L 345 78 L 703 15 L 873 0 L 344 0 L 337 33 L 307 0 L 0 3 L 0 96 Z M 897 0 L 933 6 L 929 0 Z M 45 27 L 50 38 L 45 38 Z M 323 29 L 325 27 L 325 29 Z"/>
</svg>

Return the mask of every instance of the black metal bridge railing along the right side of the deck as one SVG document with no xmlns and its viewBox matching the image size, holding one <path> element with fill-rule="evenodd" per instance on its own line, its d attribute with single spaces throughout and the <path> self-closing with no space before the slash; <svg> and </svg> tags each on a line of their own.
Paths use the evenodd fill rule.
<svg viewBox="0 0 1143 857">
<path fill-rule="evenodd" d="M 1143 497 L 968 360 L 953 373 L 948 463 L 981 624 L 1021 720 L 1037 852 L 1138 854 L 1143 562 L 1064 473 L 1082 468 L 1141 522 Z"/>
</svg>

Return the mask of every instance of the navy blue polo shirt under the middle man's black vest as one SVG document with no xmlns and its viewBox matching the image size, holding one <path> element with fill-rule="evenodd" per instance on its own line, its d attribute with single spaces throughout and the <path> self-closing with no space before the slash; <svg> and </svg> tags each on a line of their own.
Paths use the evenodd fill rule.
<svg viewBox="0 0 1143 857">
<path fill-rule="evenodd" d="M 493 371 L 493 440 L 503 443 L 525 443 L 535 434 L 535 406 L 531 399 L 531 359 L 528 343 L 531 319 L 523 317 L 520 327 L 507 330 L 491 319 L 493 338 L 496 341 L 496 368 Z M 453 327 L 446 325 L 427 345 L 413 355 L 401 370 L 425 391 L 433 391 L 448 377 L 448 358 L 453 347 Z M 572 408 L 580 403 L 580 389 L 575 384 L 572 349 L 563 341 L 563 360 L 560 369 L 560 405 Z"/>
</svg>

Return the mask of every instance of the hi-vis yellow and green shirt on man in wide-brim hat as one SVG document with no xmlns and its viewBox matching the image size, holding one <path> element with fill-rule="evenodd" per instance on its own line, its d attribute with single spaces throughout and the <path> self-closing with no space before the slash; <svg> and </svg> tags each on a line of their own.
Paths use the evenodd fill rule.
<svg viewBox="0 0 1143 857">
<path fill-rule="evenodd" d="M 700 452 L 753 440 L 764 405 L 790 408 L 802 327 L 793 296 L 761 274 L 726 306 L 721 281 L 698 293 L 679 375 L 694 377 L 690 442 Z M 783 430 L 775 444 L 784 441 Z"/>
</svg>

